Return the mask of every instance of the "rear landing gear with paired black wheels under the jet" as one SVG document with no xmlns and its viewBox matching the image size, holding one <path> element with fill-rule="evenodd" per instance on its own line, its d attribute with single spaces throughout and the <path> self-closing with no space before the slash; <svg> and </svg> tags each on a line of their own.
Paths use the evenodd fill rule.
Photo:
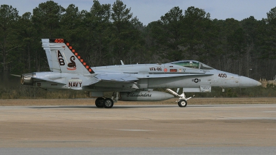
<svg viewBox="0 0 276 155">
<path fill-rule="evenodd" d="M 98 97 L 95 101 L 96 107 L 105 107 L 105 108 L 111 108 L 113 107 L 114 103 L 116 103 L 119 99 L 119 92 L 114 92 L 111 99 L 103 97 Z"/>
</svg>

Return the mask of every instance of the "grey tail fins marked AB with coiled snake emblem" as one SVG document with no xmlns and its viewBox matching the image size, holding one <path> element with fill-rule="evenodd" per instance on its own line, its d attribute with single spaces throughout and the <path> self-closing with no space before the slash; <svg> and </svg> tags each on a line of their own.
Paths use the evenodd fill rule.
<svg viewBox="0 0 276 155">
<path fill-rule="evenodd" d="M 93 74 L 93 70 L 65 39 L 42 39 L 52 72 Z"/>
</svg>

